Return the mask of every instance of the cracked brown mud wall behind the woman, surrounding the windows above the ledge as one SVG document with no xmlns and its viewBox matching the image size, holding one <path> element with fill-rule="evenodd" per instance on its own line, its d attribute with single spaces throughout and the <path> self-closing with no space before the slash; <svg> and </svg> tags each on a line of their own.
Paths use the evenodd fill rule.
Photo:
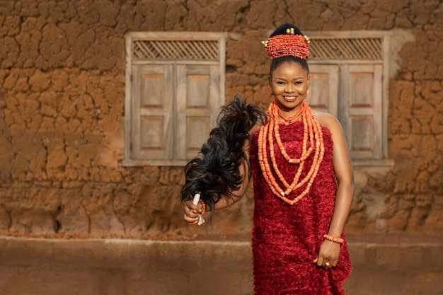
<svg viewBox="0 0 443 295">
<path fill-rule="evenodd" d="M 226 100 L 265 104 L 260 40 L 301 30 L 403 30 L 389 82 L 389 168 L 356 168 L 349 234 L 443 234 L 443 4 L 439 0 L 0 1 L 0 234 L 188 238 L 248 234 L 251 192 L 189 229 L 182 167 L 121 165 L 125 33 L 214 31 Z"/>
</svg>

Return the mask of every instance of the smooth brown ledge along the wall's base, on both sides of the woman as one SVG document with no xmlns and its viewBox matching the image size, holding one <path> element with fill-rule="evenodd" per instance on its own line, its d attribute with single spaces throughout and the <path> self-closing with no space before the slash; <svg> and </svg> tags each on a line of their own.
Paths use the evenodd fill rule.
<svg viewBox="0 0 443 295">
<path fill-rule="evenodd" d="M 443 294 L 443 243 L 350 242 L 350 295 Z M 236 241 L 0 238 L 0 294 L 251 295 Z"/>
</svg>

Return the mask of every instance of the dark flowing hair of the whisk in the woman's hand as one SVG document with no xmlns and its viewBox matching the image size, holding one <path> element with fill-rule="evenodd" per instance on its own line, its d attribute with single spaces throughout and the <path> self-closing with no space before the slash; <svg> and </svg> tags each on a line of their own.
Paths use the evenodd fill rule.
<svg viewBox="0 0 443 295">
<path fill-rule="evenodd" d="M 246 105 L 246 100 L 238 96 L 222 107 L 217 127 L 210 132 L 199 155 L 185 166 L 185 185 L 180 191 L 182 202 L 200 193 L 212 217 L 215 204 L 239 189 L 243 181 L 239 168 L 242 163 L 249 165 L 244 144 L 250 139 L 249 132 L 254 125 L 265 124 L 266 120 L 265 112 L 257 105 Z"/>
</svg>

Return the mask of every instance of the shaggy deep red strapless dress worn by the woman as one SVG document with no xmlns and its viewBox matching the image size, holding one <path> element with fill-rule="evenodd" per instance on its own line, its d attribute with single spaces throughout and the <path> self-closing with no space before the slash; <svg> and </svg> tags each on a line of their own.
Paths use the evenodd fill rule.
<svg viewBox="0 0 443 295">
<path fill-rule="evenodd" d="M 311 191 L 294 205 L 272 193 L 258 163 L 258 132 L 251 141 L 251 170 L 254 183 L 253 274 L 255 295 L 342 295 L 343 282 L 351 272 L 346 242 L 341 245 L 337 267 L 325 270 L 312 261 L 328 233 L 335 204 L 336 178 L 333 168 L 333 141 L 329 129 L 322 127 L 325 154 Z M 280 125 L 280 136 L 287 154 L 301 155 L 302 122 Z M 269 149 L 269 147 L 268 147 Z M 289 164 L 275 143 L 278 168 L 292 183 L 298 164 Z M 269 155 L 269 150 L 267 151 Z M 306 159 L 300 179 L 311 167 L 313 153 Z M 280 187 L 284 187 L 275 175 Z M 288 197 L 294 199 L 305 185 Z M 343 234 L 344 238 L 344 234 Z"/>
</svg>

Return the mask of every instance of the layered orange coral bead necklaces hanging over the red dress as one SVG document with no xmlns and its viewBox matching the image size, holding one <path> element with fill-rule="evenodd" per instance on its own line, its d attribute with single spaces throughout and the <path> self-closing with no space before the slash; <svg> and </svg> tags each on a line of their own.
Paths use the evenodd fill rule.
<svg viewBox="0 0 443 295">
<path fill-rule="evenodd" d="M 260 128 L 260 132 L 258 134 L 258 161 L 260 163 L 260 168 L 263 172 L 266 183 L 269 185 L 272 192 L 283 199 L 284 202 L 293 205 L 299 202 L 302 197 L 309 193 L 313 180 L 316 178 L 318 173 L 318 168 L 320 168 L 321 161 L 323 161 L 323 155 L 325 154 L 323 132 L 321 131 L 321 125 L 316 120 L 316 117 L 313 115 L 311 108 L 305 100 L 303 100 L 301 103 L 299 112 L 297 112 L 297 114 L 294 116 L 285 117 L 275 100 L 272 100 L 272 103 L 270 103 L 268 113 L 271 115 L 270 120 L 266 125 Z M 301 156 L 299 158 L 291 158 L 284 149 L 279 132 L 280 118 L 284 120 L 285 125 L 296 122 L 300 118 L 303 122 L 303 143 L 301 147 Z M 274 151 L 275 141 L 280 149 L 280 154 L 282 154 L 286 161 L 289 164 L 294 164 L 294 167 L 298 164 L 297 173 L 295 173 L 294 179 L 290 184 L 284 179 L 284 176 L 277 166 Z M 269 154 L 272 165 L 270 165 L 269 158 L 267 156 L 267 146 L 269 146 Z M 308 158 L 312 152 L 314 152 L 314 154 L 311 168 L 309 168 L 309 172 L 306 174 L 306 177 L 300 180 L 306 158 Z M 274 174 L 277 175 L 280 182 L 284 185 L 284 190 L 275 180 Z M 297 195 L 297 197 L 293 199 L 286 197 L 292 191 L 297 190 L 306 183 L 307 185 L 300 195 Z"/>
</svg>

